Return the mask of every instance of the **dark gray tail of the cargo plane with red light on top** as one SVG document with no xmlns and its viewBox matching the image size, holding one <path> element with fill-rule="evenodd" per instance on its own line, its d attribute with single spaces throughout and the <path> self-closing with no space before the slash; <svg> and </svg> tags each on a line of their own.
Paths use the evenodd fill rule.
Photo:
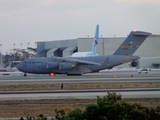
<svg viewBox="0 0 160 120">
<path fill-rule="evenodd" d="M 150 36 L 151 33 L 142 31 L 131 31 L 129 36 L 120 45 L 113 55 L 132 55 L 144 42 L 144 40 Z"/>
</svg>

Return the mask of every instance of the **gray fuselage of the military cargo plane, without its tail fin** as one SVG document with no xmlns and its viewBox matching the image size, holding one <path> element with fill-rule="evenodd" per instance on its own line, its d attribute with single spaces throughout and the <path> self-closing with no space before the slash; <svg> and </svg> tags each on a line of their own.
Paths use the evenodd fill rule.
<svg viewBox="0 0 160 120">
<path fill-rule="evenodd" d="M 59 60 L 60 57 L 39 57 L 28 58 L 17 65 L 17 68 L 24 73 L 33 74 L 85 74 L 98 72 L 103 69 L 111 69 L 114 66 L 139 59 L 139 56 L 108 55 L 93 57 L 78 57 L 72 59 L 96 62 L 100 65 L 81 64 L 70 62 L 70 58 Z"/>
</svg>

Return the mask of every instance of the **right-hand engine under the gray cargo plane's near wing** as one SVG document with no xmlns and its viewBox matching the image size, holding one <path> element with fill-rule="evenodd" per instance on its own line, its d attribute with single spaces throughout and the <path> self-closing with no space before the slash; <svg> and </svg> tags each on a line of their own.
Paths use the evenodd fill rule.
<svg viewBox="0 0 160 120">
<path fill-rule="evenodd" d="M 73 67 L 76 67 L 75 64 L 73 63 L 69 63 L 69 62 L 63 62 L 63 63 L 59 63 L 59 70 L 68 70 L 68 69 L 72 69 Z"/>
</svg>

